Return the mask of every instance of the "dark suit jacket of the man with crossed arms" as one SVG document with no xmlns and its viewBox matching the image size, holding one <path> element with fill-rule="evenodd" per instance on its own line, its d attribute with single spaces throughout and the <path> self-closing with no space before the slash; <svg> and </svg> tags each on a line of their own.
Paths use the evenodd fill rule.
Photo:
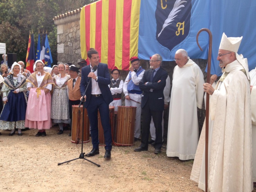
<svg viewBox="0 0 256 192">
<path fill-rule="evenodd" d="M 153 82 L 150 82 L 152 69 L 144 72 L 143 78 L 139 84 L 140 89 L 143 91 L 141 98 L 141 108 L 143 108 L 146 102 L 149 102 L 150 109 L 153 111 L 164 111 L 164 88 L 168 73 L 160 67 L 155 73 Z M 158 81 L 161 80 L 159 83 Z M 144 83 L 148 82 L 147 85 Z M 150 92 L 153 89 L 153 92 Z"/>
</svg>

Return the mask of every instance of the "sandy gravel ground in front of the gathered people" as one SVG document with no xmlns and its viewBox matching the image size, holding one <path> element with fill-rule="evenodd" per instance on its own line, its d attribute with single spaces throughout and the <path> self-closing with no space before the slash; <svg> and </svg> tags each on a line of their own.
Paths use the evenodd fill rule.
<svg viewBox="0 0 256 192">
<path fill-rule="evenodd" d="M 27 130 L 23 136 L 0 136 L 0 191 L 199 191 L 189 179 L 193 161 L 180 161 L 159 155 L 154 148 L 134 152 L 140 142 L 131 147 L 112 148 L 111 160 L 106 160 L 104 147 L 100 154 L 88 157 L 101 167 L 82 159 L 58 166 L 58 163 L 78 158 L 81 144 L 73 144 L 69 131 L 57 135 L 58 128 L 47 130 L 46 137 L 35 137 L 37 130 Z M 91 151 L 91 142 L 83 151 Z M 253 191 L 256 191 L 255 189 Z"/>
</svg>

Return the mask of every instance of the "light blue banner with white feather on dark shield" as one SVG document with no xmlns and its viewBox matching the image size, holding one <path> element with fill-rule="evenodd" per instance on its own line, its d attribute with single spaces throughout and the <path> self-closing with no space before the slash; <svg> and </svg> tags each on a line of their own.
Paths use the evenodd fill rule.
<svg viewBox="0 0 256 192">
<path fill-rule="evenodd" d="M 159 53 L 163 60 L 174 59 L 183 48 L 190 58 L 208 58 L 208 34 L 212 32 L 211 74 L 221 75 L 217 54 L 222 33 L 228 37 L 243 36 L 239 54 L 248 59 L 249 70 L 256 66 L 255 0 L 141 0 L 138 57 L 149 59 Z"/>
</svg>

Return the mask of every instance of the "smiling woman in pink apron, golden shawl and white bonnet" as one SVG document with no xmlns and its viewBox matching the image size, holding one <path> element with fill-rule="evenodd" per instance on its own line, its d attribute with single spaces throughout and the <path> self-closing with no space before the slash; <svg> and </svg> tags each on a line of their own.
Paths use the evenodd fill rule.
<svg viewBox="0 0 256 192">
<path fill-rule="evenodd" d="M 32 73 L 27 78 L 27 90 L 29 97 L 27 102 L 27 112 L 25 127 L 38 129 L 36 136 L 46 136 L 46 129 L 51 128 L 51 74 L 45 72 L 43 61 L 37 60 L 35 63 L 37 72 Z"/>
</svg>

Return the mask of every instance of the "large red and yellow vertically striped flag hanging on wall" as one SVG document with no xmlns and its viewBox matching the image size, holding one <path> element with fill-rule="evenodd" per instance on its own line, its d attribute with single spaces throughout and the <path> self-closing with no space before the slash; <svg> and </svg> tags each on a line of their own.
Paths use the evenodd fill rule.
<svg viewBox="0 0 256 192">
<path fill-rule="evenodd" d="M 80 15 L 81 56 L 95 48 L 109 69 L 129 70 L 138 56 L 140 0 L 99 0 L 85 5 Z"/>
</svg>

